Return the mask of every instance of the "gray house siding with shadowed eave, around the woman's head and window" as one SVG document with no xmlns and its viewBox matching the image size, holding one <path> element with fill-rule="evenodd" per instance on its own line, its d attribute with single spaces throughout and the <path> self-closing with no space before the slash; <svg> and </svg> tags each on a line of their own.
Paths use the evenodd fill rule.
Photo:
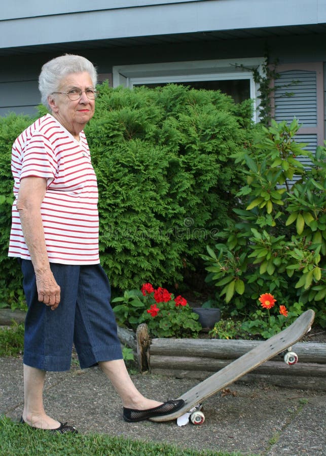
<svg viewBox="0 0 326 456">
<path fill-rule="evenodd" d="M 326 87 L 325 23 L 326 0 L 81 0 L 77 6 L 66 0 L 30 0 L 19 11 L 8 2 L 0 13 L 0 116 L 10 111 L 34 115 L 41 67 L 65 52 L 84 55 L 105 79 L 112 79 L 113 67 L 119 65 L 240 61 L 263 58 L 268 50 L 271 63 L 301 64 L 313 58 L 323 65 Z M 320 24 L 317 33 L 309 33 L 311 24 Z M 305 25 L 300 30 L 305 34 L 288 33 L 296 25 Z M 266 36 L 264 30 L 256 36 L 262 27 Z M 277 27 L 279 36 L 268 27 Z M 212 39 L 210 32 L 216 30 L 220 36 Z M 97 44 L 100 39 L 105 41 Z"/>
</svg>

